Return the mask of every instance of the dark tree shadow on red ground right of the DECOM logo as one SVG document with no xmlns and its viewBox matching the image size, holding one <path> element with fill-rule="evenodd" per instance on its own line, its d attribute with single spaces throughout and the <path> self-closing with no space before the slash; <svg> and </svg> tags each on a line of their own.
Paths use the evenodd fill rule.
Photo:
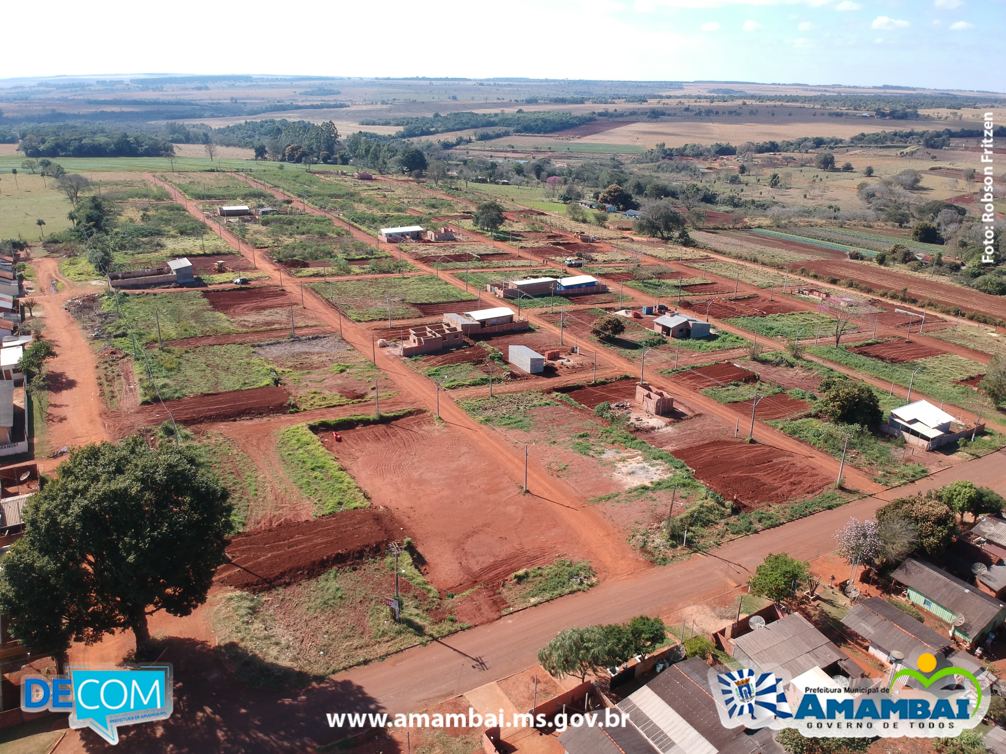
<svg viewBox="0 0 1006 754">
<path fill-rule="evenodd" d="M 160 662 L 174 669 L 174 711 L 167 720 L 123 726 L 121 752 L 304 752 L 329 746 L 366 732 L 365 728 L 329 726 L 327 713 L 387 712 L 351 681 L 325 679 L 299 689 L 250 688 L 237 680 L 231 658 L 226 666 L 217 648 L 193 638 L 172 637 Z M 233 659 L 240 663 L 237 654 Z M 246 657 L 244 658 L 246 661 Z M 263 672 L 296 674 L 293 669 L 258 659 Z M 239 667 L 239 666 L 238 666 Z M 80 732 L 87 752 L 108 751 L 108 743 L 92 730 Z M 383 754 L 398 746 L 381 742 Z M 341 748 L 341 747 L 340 747 Z"/>
</svg>

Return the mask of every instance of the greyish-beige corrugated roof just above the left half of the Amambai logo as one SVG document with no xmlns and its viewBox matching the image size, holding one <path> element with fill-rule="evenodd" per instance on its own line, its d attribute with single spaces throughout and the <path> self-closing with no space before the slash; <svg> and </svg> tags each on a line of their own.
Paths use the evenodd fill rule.
<svg viewBox="0 0 1006 754">
<path fill-rule="evenodd" d="M 791 678 L 847 656 L 799 612 L 737 636 L 733 642 L 763 673 L 785 670 Z"/>
</svg>

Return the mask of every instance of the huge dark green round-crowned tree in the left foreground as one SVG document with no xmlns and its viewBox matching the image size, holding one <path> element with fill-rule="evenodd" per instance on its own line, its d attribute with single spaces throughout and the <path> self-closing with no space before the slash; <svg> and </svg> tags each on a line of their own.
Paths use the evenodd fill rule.
<svg viewBox="0 0 1006 754">
<path fill-rule="evenodd" d="M 57 475 L 25 505 L 0 612 L 30 651 L 131 629 L 147 657 L 149 615 L 188 615 L 206 600 L 224 561 L 227 490 L 188 450 L 140 436 L 77 448 Z"/>
</svg>

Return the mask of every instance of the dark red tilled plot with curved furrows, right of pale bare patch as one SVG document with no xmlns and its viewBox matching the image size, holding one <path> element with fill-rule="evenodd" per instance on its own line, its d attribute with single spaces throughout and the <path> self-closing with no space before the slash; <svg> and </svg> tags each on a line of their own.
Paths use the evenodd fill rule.
<svg viewBox="0 0 1006 754">
<path fill-rule="evenodd" d="M 674 454 L 700 481 L 746 510 L 810 497 L 831 482 L 804 458 L 771 445 L 715 440 Z"/>
</svg>

